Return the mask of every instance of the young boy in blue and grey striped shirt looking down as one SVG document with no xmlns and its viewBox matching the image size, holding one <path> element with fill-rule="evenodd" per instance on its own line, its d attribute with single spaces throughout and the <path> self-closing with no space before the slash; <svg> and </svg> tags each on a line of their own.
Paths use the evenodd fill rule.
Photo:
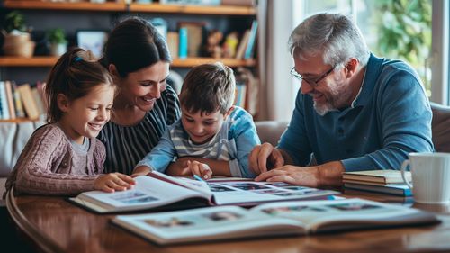
<svg viewBox="0 0 450 253">
<path fill-rule="evenodd" d="M 232 105 L 235 88 L 233 71 L 221 63 L 193 68 L 184 78 L 179 95 L 181 119 L 166 129 L 133 175 L 157 170 L 205 179 L 212 174 L 255 177 L 248 167 L 248 155 L 260 140 L 252 116 Z M 178 166 L 166 171 L 175 158 Z"/>
</svg>

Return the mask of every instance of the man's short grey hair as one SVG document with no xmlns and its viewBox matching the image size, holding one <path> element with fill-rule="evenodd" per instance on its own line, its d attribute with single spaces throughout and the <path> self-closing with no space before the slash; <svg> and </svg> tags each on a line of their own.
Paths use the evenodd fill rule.
<svg viewBox="0 0 450 253">
<path fill-rule="evenodd" d="M 323 54 L 323 61 L 331 66 L 356 58 L 367 64 L 370 51 L 356 23 L 343 14 L 316 14 L 299 24 L 289 38 L 293 57 Z M 295 54 L 295 55 L 294 55 Z"/>
</svg>

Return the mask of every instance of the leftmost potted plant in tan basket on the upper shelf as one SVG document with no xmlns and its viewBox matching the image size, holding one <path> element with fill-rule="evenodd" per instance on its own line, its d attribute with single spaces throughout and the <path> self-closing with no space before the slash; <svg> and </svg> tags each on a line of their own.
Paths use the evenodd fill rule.
<svg viewBox="0 0 450 253">
<path fill-rule="evenodd" d="M 27 31 L 23 14 L 13 11 L 4 19 L 4 45 L 5 55 L 31 57 L 35 42 L 31 41 L 30 32 Z"/>
</svg>

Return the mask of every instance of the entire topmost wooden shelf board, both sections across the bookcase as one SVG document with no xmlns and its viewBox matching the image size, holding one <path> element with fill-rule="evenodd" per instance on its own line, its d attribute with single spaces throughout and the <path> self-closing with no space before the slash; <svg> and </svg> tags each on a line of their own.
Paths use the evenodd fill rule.
<svg viewBox="0 0 450 253">
<path fill-rule="evenodd" d="M 73 11 L 104 11 L 104 12 L 141 12 L 167 14 L 224 14 L 224 15 L 256 15 L 257 10 L 251 6 L 199 6 L 199 5 L 160 5 L 160 4 L 130 4 L 89 2 L 53 3 L 38 0 L 5 0 L 4 7 L 14 9 L 41 10 L 73 10 Z"/>
</svg>

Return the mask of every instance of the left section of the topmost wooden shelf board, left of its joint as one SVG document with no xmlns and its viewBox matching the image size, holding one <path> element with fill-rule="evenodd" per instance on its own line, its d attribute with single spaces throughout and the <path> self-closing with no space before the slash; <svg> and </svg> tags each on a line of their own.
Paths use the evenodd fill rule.
<svg viewBox="0 0 450 253">
<path fill-rule="evenodd" d="M 52 3 L 36 0 L 5 0 L 4 7 L 14 9 L 41 9 L 41 10 L 78 10 L 78 11 L 125 11 L 123 3 L 95 4 L 89 2 L 80 3 Z"/>
</svg>

